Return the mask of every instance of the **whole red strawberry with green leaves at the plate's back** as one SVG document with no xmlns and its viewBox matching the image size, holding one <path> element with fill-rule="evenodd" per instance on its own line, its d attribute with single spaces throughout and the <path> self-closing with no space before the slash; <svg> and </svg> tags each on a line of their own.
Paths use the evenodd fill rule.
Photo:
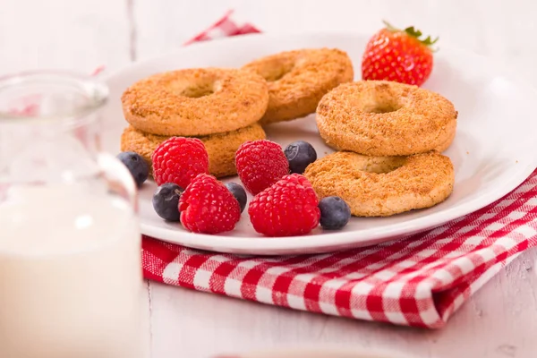
<svg viewBox="0 0 537 358">
<path fill-rule="evenodd" d="M 413 27 L 397 30 L 388 22 L 369 40 L 362 57 L 362 80 L 385 80 L 421 86 L 432 71 L 431 45 Z"/>
</svg>

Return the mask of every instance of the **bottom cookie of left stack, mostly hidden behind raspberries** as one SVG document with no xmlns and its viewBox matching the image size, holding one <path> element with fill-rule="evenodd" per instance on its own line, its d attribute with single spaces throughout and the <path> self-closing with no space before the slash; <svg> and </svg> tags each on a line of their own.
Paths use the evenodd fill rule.
<svg viewBox="0 0 537 358">
<path fill-rule="evenodd" d="M 150 166 L 153 151 L 168 138 L 170 137 L 138 131 L 131 125 L 125 128 L 121 136 L 121 150 L 140 154 Z M 219 178 L 236 174 L 234 154 L 243 142 L 263 140 L 266 135 L 260 124 L 251 124 L 234 132 L 199 138 L 209 153 L 209 173 Z"/>
</svg>

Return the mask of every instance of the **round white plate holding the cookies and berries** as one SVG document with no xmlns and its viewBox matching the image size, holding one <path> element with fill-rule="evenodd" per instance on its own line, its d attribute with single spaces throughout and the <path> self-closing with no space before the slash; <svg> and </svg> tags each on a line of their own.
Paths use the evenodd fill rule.
<svg viewBox="0 0 537 358">
<path fill-rule="evenodd" d="M 359 80 L 367 39 L 368 36 L 350 33 L 260 34 L 195 44 L 132 64 L 107 81 L 111 95 L 105 116 L 106 149 L 117 153 L 120 134 L 126 126 L 120 103 L 122 92 L 132 82 L 150 74 L 188 67 L 240 66 L 262 55 L 289 49 L 338 47 L 353 59 L 355 78 Z M 157 216 L 150 201 L 156 185 L 150 182 L 141 189 L 142 232 L 166 242 L 209 251 L 243 254 L 335 251 L 382 243 L 439 226 L 499 199 L 532 173 L 533 142 L 537 138 L 534 115 L 537 96 L 532 88 L 510 79 L 481 56 L 445 47 L 435 54 L 435 67 L 424 87 L 450 99 L 459 112 L 456 139 L 445 153 L 455 166 L 455 189 L 439 205 L 394 217 L 353 217 L 339 232 L 323 232 L 319 228 L 310 235 L 286 238 L 256 234 L 245 210 L 233 232 L 192 234 L 181 225 L 166 223 Z M 309 141 L 319 157 L 332 151 L 320 140 L 313 115 L 272 125 L 267 133 L 270 140 L 282 146 L 295 140 Z M 228 180 L 240 183 L 236 177 Z"/>
</svg>

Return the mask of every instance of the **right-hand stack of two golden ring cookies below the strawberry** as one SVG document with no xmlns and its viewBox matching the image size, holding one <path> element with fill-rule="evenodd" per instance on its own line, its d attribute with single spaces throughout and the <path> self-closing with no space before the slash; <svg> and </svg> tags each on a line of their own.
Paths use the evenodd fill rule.
<svg viewBox="0 0 537 358">
<path fill-rule="evenodd" d="M 454 167 L 441 153 L 456 135 L 457 112 L 438 93 L 395 81 L 356 81 L 331 90 L 317 126 L 339 151 L 304 175 L 320 198 L 338 196 L 356 217 L 430 208 L 453 191 Z"/>
</svg>

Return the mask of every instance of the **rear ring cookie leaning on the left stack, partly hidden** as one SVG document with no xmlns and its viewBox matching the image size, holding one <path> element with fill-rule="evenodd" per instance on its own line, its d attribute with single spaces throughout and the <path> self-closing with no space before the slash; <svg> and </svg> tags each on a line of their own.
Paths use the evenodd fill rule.
<svg viewBox="0 0 537 358">
<path fill-rule="evenodd" d="M 243 66 L 268 81 L 268 108 L 261 124 L 315 113 L 320 98 L 340 83 L 353 81 L 349 56 L 336 48 L 286 51 Z"/>
</svg>

